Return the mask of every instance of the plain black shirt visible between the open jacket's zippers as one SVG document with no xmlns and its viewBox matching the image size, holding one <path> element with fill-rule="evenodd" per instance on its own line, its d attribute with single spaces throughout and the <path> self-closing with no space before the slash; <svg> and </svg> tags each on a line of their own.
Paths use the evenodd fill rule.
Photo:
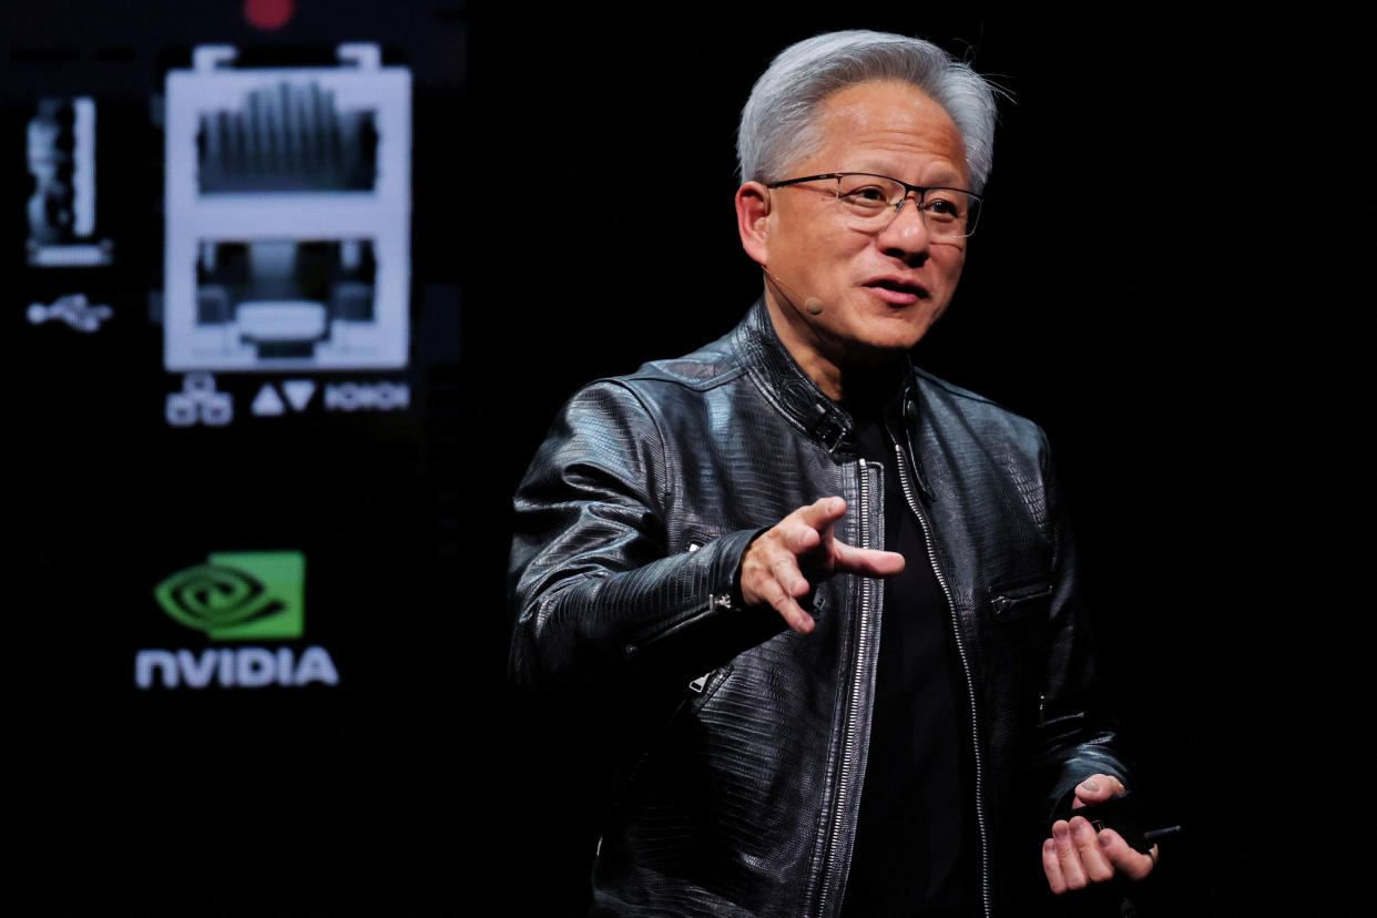
<svg viewBox="0 0 1377 918">
<path fill-rule="evenodd" d="M 884 413 L 899 417 L 898 399 Z M 978 914 L 969 696 L 952 611 L 903 493 L 894 439 L 879 413 L 852 416 L 861 457 L 884 469 L 885 548 L 907 564 L 884 582 L 870 750 L 841 911 Z"/>
</svg>

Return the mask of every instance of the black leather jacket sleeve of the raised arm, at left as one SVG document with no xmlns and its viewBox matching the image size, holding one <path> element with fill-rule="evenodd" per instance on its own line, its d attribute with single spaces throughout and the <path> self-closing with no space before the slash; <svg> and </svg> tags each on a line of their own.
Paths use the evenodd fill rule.
<svg viewBox="0 0 1377 918">
<path fill-rule="evenodd" d="M 687 681 L 767 636 L 768 618 L 735 595 L 756 530 L 668 553 L 671 461 L 654 414 L 620 381 L 584 388 L 555 420 L 514 501 L 518 685 L 547 692 L 643 669 Z"/>
</svg>

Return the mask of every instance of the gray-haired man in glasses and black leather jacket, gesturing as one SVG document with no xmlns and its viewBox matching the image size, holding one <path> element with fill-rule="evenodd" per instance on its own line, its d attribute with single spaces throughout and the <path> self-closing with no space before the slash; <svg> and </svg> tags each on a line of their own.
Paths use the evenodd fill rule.
<svg viewBox="0 0 1377 918">
<path fill-rule="evenodd" d="M 595 912 L 1029 914 L 1038 842 L 1044 895 L 1151 870 L 1056 818 L 1126 771 L 1044 436 L 907 362 L 993 127 L 924 41 L 788 48 L 738 136 L 763 299 L 576 394 L 536 456 L 511 672 L 617 710 Z"/>
</svg>

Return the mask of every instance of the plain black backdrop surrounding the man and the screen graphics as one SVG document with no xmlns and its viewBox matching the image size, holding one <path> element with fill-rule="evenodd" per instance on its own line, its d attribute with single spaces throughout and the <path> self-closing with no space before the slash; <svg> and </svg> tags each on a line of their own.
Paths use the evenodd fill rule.
<svg viewBox="0 0 1377 918">
<path fill-rule="evenodd" d="M 735 117 L 777 51 L 837 28 L 927 37 L 1012 96 L 965 278 L 916 361 L 1052 438 L 1144 797 L 1184 826 L 1165 914 L 1327 914 L 1359 885 L 1374 213 L 1356 15 L 302 0 L 267 33 L 240 7 L 4 14 L 15 901 L 578 907 L 599 775 L 505 687 L 509 494 L 574 388 L 717 337 L 757 296 Z M 149 96 L 196 44 L 343 40 L 416 81 L 412 409 L 169 429 Z M 95 94 L 120 146 L 102 213 L 121 259 L 92 281 L 116 318 L 88 337 L 23 319 L 65 292 L 21 242 L 23 106 L 61 92 Z M 1067 198 L 1075 222 L 1053 224 Z M 340 685 L 136 692 L 135 648 L 186 640 L 153 584 L 271 548 L 307 553 L 307 626 Z"/>
</svg>

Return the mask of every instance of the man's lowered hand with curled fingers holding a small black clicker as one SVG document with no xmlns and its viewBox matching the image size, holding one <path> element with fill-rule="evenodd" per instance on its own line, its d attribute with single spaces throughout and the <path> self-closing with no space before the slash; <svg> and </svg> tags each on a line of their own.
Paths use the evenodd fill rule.
<svg viewBox="0 0 1377 918">
<path fill-rule="evenodd" d="M 1108 775 L 1091 775 L 1075 786 L 1075 801 L 1071 809 L 1089 804 L 1102 804 L 1110 797 L 1124 793 L 1124 784 Z M 1157 866 L 1157 845 L 1142 853 L 1129 846 L 1113 829 L 1095 831 L 1095 826 L 1082 816 L 1071 820 L 1058 819 L 1052 823 L 1052 837 L 1042 842 L 1042 873 L 1047 885 L 1056 895 L 1067 889 L 1084 889 L 1114 877 L 1142 879 Z"/>
</svg>

